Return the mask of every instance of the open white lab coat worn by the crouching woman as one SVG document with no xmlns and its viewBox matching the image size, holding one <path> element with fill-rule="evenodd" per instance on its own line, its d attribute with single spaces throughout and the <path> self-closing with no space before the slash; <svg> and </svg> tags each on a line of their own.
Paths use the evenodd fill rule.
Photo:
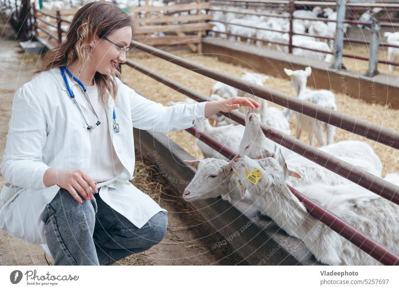
<svg viewBox="0 0 399 290">
<path fill-rule="evenodd" d="M 68 81 L 83 114 L 92 116 L 87 101 L 78 93 L 80 87 Z M 135 165 L 133 128 L 155 132 L 190 128 L 205 117 L 206 102 L 166 107 L 140 96 L 119 79 L 117 82 L 115 112 L 121 130 L 112 130 L 111 97 L 106 105 L 108 124 L 100 126 L 108 126 L 124 169 L 97 187 L 101 187 L 100 196 L 107 204 L 141 228 L 154 214 L 166 210 L 129 182 Z M 7 181 L 0 193 L 1 230 L 27 242 L 46 244 L 40 215 L 60 187 L 45 186 L 44 172 L 49 167 L 87 172 L 90 146 L 89 131 L 66 91 L 58 67 L 34 76 L 19 88 L 0 164 Z"/>
</svg>

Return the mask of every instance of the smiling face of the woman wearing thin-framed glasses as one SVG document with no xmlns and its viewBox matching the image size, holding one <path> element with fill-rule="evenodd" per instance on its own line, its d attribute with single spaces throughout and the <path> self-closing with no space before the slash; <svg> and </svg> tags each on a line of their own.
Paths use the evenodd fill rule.
<svg viewBox="0 0 399 290">
<path fill-rule="evenodd" d="M 132 41 L 132 28 L 130 26 L 119 28 L 107 34 L 106 37 L 117 45 L 129 47 Z M 110 41 L 96 36 L 96 39 L 90 43 L 90 46 L 93 47 L 91 56 L 96 71 L 104 75 L 111 74 L 112 67 L 126 61 L 125 51 L 123 49 L 121 51 L 118 46 Z"/>
</svg>

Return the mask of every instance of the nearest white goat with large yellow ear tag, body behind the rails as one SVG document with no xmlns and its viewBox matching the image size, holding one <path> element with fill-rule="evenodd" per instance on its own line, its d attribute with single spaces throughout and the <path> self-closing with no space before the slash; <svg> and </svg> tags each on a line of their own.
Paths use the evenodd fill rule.
<svg viewBox="0 0 399 290">
<path fill-rule="evenodd" d="M 318 261 L 330 265 L 381 265 L 370 255 L 345 240 L 328 226 L 309 215 L 303 203 L 288 188 L 288 169 L 279 151 L 271 157 L 254 160 L 236 158 L 233 171 L 242 190 L 263 208 L 287 233 L 300 238 Z M 296 188 L 367 236 L 394 253 L 399 252 L 399 206 L 356 184 L 329 186 L 312 184 Z"/>
</svg>

